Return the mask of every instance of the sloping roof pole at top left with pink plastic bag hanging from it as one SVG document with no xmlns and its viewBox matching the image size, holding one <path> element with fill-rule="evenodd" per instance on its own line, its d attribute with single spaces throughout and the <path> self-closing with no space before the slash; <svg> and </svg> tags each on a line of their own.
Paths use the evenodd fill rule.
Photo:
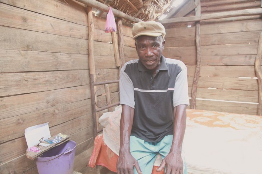
<svg viewBox="0 0 262 174">
<path fill-rule="evenodd" d="M 81 2 L 83 4 L 86 4 L 88 6 L 91 6 L 91 7 L 97 8 L 97 9 L 102 10 L 104 12 L 109 11 L 109 7 L 107 5 L 102 4 L 101 2 L 98 2 L 96 0 L 76 0 L 76 1 Z M 142 21 L 141 19 L 129 16 L 129 15 L 123 13 L 122 11 L 116 10 L 114 8 L 112 8 L 112 11 L 113 11 L 113 14 L 115 16 L 119 17 L 119 18 L 124 18 L 124 19 L 126 19 L 128 21 L 131 21 L 131 22 L 140 22 L 140 21 Z"/>
</svg>

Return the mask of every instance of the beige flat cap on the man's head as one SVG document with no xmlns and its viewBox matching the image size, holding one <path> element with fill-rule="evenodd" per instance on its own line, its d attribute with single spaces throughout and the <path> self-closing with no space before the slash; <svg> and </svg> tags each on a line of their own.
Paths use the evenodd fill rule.
<svg viewBox="0 0 262 174">
<path fill-rule="evenodd" d="M 165 27 L 156 21 L 138 22 L 134 24 L 132 29 L 133 39 L 139 36 L 161 36 L 165 38 Z"/>
</svg>

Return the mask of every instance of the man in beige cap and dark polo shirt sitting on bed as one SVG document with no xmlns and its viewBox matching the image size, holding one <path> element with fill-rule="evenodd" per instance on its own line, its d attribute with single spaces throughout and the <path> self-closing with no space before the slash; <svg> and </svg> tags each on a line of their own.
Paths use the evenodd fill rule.
<svg viewBox="0 0 262 174">
<path fill-rule="evenodd" d="M 151 174 L 158 153 L 157 171 L 186 174 L 181 148 L 189 105 L 187 69 L 183 62 L 162 55 L 165 28 L 149 21 L 133 26 L 137 60 L 120 72 L 120 150 L 118 174 Z"/>
</svg>

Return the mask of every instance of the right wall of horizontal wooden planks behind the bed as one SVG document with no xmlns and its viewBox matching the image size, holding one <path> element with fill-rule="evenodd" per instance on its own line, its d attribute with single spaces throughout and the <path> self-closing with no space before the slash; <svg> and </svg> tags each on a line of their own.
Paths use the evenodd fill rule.
<svg viewBox="0 0 262 174">
<path fill-rule="evenodd" d="M 225 11 L 236 5 L 236 2 L 236 0 L 201 0 L 201 14 L 202 11 L 207 12 L 207 8 L 202 6 L 219 4 L 218 6 L 223 6 Z M 252 1 L 251 4 L 254 3 Z M 256 1 L 257 5 L 254 8 L 260 8 L 260 3 L 261 1 L 259 3 Z M 166 57 L 182 60 L 186 64 L 189 70 L 189 92 L 191 92 L 196 65 L 195 26 L 191 22 L 165 27 L 167 34 L 163 54 Z M 216 22 L 214 20 L 209 23 L 201 21 L 202 66 L 197 98 L 202 100 L 197 100 L 197 109 L 256 115 L 258 84 L 257 79 L 254 78 L 256 77 L 254 60 L 260 32 L 262 32 L 262 19 L 256 16 L 254 19 L 244 21 Z"/>
</svg>

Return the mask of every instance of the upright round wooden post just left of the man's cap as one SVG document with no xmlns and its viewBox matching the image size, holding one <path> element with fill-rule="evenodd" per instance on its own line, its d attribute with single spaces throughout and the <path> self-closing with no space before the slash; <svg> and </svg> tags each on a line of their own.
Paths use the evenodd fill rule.
<svg viewBox="0 0 262 174">
<path fill-rule="evenodd" d="M 117 31 L 118 31 L 118 45 L 119 45 L 119 56 L 121 68 L 125 64 L 125 52 L 124 52 L 124 34 L 123 34 L 123 24 L 122 19 L 117 18 Z"/>
</svg>

